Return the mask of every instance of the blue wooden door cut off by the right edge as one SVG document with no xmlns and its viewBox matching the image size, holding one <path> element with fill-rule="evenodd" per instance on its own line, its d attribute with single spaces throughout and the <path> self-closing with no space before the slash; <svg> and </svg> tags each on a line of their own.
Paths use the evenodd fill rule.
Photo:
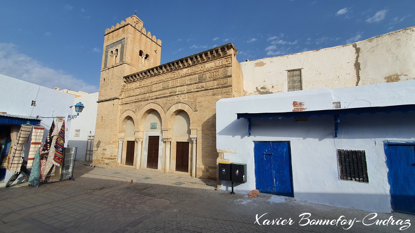
<svg viewBox="0 0 415 233">
<path fill-rule="evenodd" d="M 385 144 L 391 205 L 415 214 L 415 144 Z"/>
</svg>

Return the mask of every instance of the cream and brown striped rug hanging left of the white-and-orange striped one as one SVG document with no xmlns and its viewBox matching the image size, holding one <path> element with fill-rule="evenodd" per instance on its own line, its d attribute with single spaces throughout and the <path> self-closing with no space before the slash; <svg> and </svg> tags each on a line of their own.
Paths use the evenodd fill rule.
<svg viewBox="0 0 415 233">
<path fill-rule="evenodd" d="M 30 132 L 32 131 L 32 125 L 22 125 L 19 134 L 17 135 L 17 141 L 13 144 L 12 153 L 9 159 L 8 169 L 13 172 L 18 172 L 22 166 L 23 159 L 23 144 L 27 141 Z"/>
</svg>

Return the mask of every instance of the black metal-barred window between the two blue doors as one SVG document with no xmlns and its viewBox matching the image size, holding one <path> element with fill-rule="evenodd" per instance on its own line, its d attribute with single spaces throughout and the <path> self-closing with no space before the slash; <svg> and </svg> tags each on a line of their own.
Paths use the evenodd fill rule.
<svg viewBox="0 0 415 233">
<path fill-rule="evenodd" d="M 369 183 L 365 151 L 337 150 L 340 180 Z"/>
</svg>

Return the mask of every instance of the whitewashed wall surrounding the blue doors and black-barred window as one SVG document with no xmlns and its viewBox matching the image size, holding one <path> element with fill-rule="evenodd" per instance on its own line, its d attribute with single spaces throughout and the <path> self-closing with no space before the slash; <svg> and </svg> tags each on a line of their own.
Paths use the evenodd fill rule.
<svg viewBox="0 0 415 233">
<path fill-rule="evenodd" d="M 224 154 L 230 162 L 247 163 L 247 183 L 235 192 L 255 189 L 254 141 L 289 141 L 293 190 L 300 200 L 391 212 L 383 140 L 414 141 L 414 112 L 341 115 L 339 137 L 334 138 L 334 119 L 312 116 L 306 122 L 293 118 L 253 119 L 251 137 L 247 120 L 236 113 L 291 112 L 293 101 L 304 101 L 307 110 L 415 104 L 415 81 L 374 84 L 342 89 L 315 89 L 287 93 L 227 98 L 217 102 L 217 149 L 235 149 Z M 337 149 L 366 151 L 369 183 L 339 180 Z M 222 189 L 229 189 L 222 182 Z"/>
</svg>

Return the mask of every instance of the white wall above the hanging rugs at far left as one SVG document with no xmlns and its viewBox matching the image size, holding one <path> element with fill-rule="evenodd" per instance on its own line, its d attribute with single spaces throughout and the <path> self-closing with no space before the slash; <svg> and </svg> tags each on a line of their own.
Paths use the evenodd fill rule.
<svg viewBox="0 0 415 233">
<path fill-rule="evenodd" d="M 0 112 L 32 117 L 62 116 L 68 129 L 65 132 L 65 146 L 67 145 L 71 122 L 66 120 L 66 116 L 72 114 L 69 106 L 73 105 L 74 96 L 0 74 L 0 100 Z M 31 106 L 32 101 L 36 101 L 36 106 Z M 45 127 L 44 139 L 53 119 L 56 118 L 41 118 L 41 125 Z M 24 144 L 26 158 L 30 148 L 30 137 L 29 135 L 29 139 Z M 10 176 L 11 173 L 7 172 L 5 180 L 7 181 Z"/>
</svg>

